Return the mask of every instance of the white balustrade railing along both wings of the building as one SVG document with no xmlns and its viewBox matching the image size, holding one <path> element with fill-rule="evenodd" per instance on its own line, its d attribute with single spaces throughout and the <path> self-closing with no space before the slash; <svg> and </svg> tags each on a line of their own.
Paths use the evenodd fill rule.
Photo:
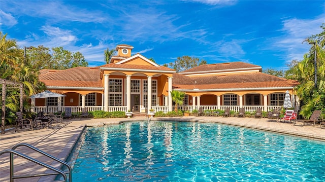
<svg viewBox="0 0 325 182">
<path fill-rule="evenodd" d="M 66 107 L 71 107 L 71 112 L 72 113 L 77 113 L 77 112 L 82 112 L 82 107 L 81 106 L 62 106 L 61 111 L 65 111 Z M 178 110 L 180 111 L 189 111 L 193 112 L 193 110 L 198 110 L 198 105 L 178 105 Z M 206 110 L 221 110 L 224 111 L 226 107 L 230 107 L 231 111 L 234 112 L 239 112 L 240 107 L 245 107 L 245 112 L 253 113 L 257 110 L 258 107 L 262 108 L 262 111 L 265 111 L 264 105 L 220 105 L 219 107 L 217 105 L 200 105 L 203 111 Z M 274 108 L 281 108 L 282 106 L 277 106 L 277 105 L 267 105 L 266 108 L 267 110 L 265 112 L 269 112 L 271 110 L 274 110 Z M 34 108 L 34 111 L 33 111 Z M 103 111 L 104 108 L 103 106 L 86 106 L 88 108 L 88 111 Z M 169 112 L 169 106 L 165 105 L 155 105 L 152 106 L 155 112 L 162 111 L 164 113 Z M 173 105 L 173 111 L 174 111 L 175 106 Z M 35 113 L 43 112 L 43 113 L 57 113 L 58 107 L 57 106 L 36 106 L 32 107 L 31 111 Z M 123 111 L 126 112 L 126 106 L 109 106 L 108 107 L 109 112 L 114 112 L 114 111 Z"/>
</svg>

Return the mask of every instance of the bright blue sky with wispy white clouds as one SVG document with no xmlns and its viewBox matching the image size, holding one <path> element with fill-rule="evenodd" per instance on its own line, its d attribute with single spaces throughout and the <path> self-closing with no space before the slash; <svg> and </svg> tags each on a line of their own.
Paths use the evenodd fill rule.
<svg viewBox="0 0 325 182">
<path fill-rule="evenodd" d="M 324 1 L 0 1 L 0 28 L 18 45 L 62 46 L 89 66 L 104 50 L 134 46 L 158 64 L 188 55 L 286 69 L 320 33 Z"/>
</svg>

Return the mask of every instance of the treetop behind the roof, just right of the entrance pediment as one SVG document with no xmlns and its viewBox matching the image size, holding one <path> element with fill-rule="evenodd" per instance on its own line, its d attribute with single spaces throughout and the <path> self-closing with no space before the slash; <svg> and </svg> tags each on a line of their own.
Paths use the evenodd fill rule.
<svg viewBox="0 0 325 182">
<path fill-rule="evenodd" d="M 201 60 L 195 57 L 183 56 L 177 57 L 174 63 L 169 63 L 169 66 L 176 70 L 176 72 L 181 72 L 186 69 L 197 67 L 199 65 L 207 64 L 207 61 Z"/>
</svg>

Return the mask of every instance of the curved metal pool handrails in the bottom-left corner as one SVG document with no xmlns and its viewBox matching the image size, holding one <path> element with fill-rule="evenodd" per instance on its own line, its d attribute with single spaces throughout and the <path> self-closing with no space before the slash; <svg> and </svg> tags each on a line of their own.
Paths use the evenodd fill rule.
<svg viewBox="0 0 325 182">
<path fill-rule="evenodd" d="M 27 156 L 25 154 L 22 154 L 22 153 L 16 151 L 16 149 L 18 147 L 20 147 L 20 146 L 25 146 L 25 147 L 27 147 L 29 149 L 34 150 L 35 152 L 38 152 L 38 153 L 40 153 L 40 154 L 42 154 L 44 156 L 47 156 L 47 157 L 53 159 L 54 161 L 56 161 L 56 162 L 62 164 L 63 166 L 67 167 L 69 169 L 69 171 L 64 172 L 64 171 L 62 171 L 60 169 L 57 169 L 57 168 L 55 168 L 53 166 L 45 164 L 45 163 L 43 163 L 43 162 L 41 162 L 39 160 L 36 160 L 34 158 L 31 158 L 31 157 L 29 157 L 29 156 Z M 50 154 L 47 154 L 47 153 L 45 153 L 45 152 L 43 152 L 43 151 L 41 151 L 41 150 L 39 150 L 39 149 L 37 149 L 35 147 L 32 147 L 30 144 L 18 143 L 16 145 L 14 145 L 14 147 L 12 149 L 7 149 L 7 150 L 4 150 L 4 151 L 1 151 L 0 156 L 5 154 L 5 153 L 10 154 L 10 182 L 13 182 L 14 179 L 30 178 L 30 177 L 41 177 L 41 176 L 49 176 L 49 175 L 61 175 L 63 177 L 63 180 L 55 180 L 55 181 L 58 181 L 58 182 L 59 181 L 70 181 L 70 182 L 72 182 L 72 168 L 68 163 L 66 163 L 64 161 L 61 161 L 60 159 L 58 159 L 58 158 L 56 158 L 54 156 L 51 156 Z M 22 157 L 22 158 L 24 158 L 24 159 L 26 159 L 26 160 L 28 160 L 30 162 L 34 162 L 35 164 L 38 164 L 38 165 L 43 166 L 43 167 L 45 167 L 47 169 L 50 169 L 53 172 L 52 173 L 44 173 L 44 174 L 32 174 L 32 175 L 14 175 L 14 154 L 16 156 Z M 69 178 L 68 178 L 67 174 L 69 174 Z"/>
</svg>

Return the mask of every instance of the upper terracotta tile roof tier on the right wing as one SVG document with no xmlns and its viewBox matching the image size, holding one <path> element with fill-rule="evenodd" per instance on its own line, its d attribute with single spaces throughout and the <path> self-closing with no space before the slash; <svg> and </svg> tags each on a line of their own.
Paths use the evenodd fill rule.
<svg viewBox="0 0 325 182">
<path fill-rule="evenodd" d="M 198 67 L 193 67 L 182 71 L 180 73 L 186 72 L 200 72 L 200 71 L 221 71 L 225 69 L 240 69 L 240 68 L 255 68 L 261 69 L 261 66 L 249 64 L 245 62 L 226 62 L 226 63 L 216 63 L 216 64 L 203 64 Z"/>
</svg>

